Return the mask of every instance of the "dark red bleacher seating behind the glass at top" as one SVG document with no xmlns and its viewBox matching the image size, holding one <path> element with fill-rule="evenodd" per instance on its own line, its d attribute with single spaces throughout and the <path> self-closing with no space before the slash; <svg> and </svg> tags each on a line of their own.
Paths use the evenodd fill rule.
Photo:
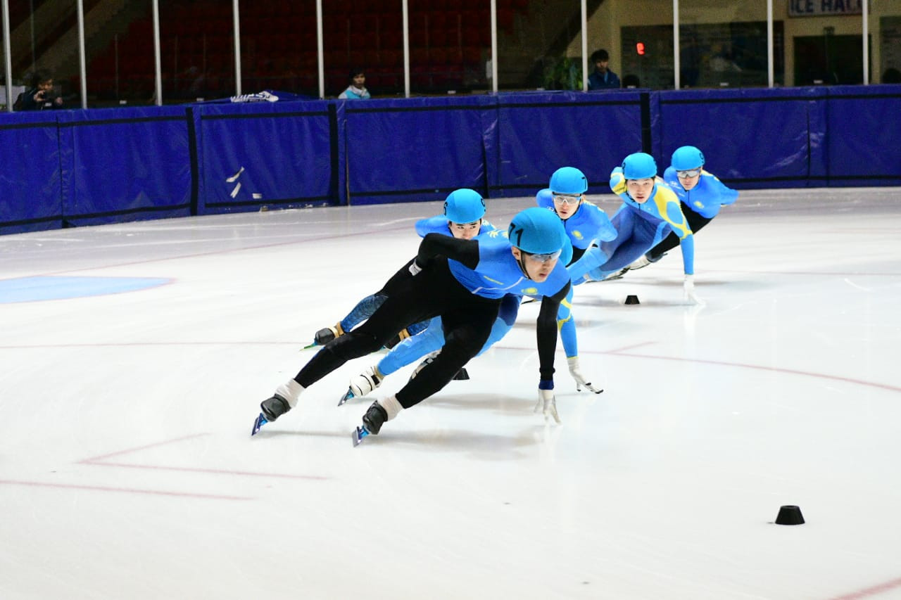
<svg viewBox="0 0 901 600">
<path fill-rule="evenodd" d="M 245 8 L 247 6 L 247 8 Z M 528 0 L 498 0 L 497 22 L 511 32 L 515 14 L 528 10 Z M 414 93 L 444 93 L 467 85 L 486 85 L 484 60 L 490 54 L 489 4 L 481 0 L 416 0 L 410 3 L 410 71 Z M 275 0 L 241 6 L 241 76 L 245 92 L 259 89 L 318 95 L 314 0 Z M 377 95 L 403 92 L 403 23 L 400 0 L 323 2 L 323 58 L 326 95 L 337 95 L 348 84 L 351 67 L 367 70 L 367 86 Z M 148 14 L 129 26 L 138 44 L 119 44 L 120 76 L 150 95 L 153 89 L 152 50 L 144 46 L 152 32 Z M 132 37 L 133 36 L 133 37 Z M 231 3 L 225 0 L 162 0 L 160 42 L 163 94 L 190 97 L 196 77 L 203 77 L 204 95 L 230 95 L 234 48 Z M 140 51 L 125 51 L 127 47 Z M 92 58 L 88 77 L 115 76 L 112 45 Z M 297 87 L 300 86 L 300 87 Z M 95 86 L 96 87 L 96 86 Z"/>
</svg>

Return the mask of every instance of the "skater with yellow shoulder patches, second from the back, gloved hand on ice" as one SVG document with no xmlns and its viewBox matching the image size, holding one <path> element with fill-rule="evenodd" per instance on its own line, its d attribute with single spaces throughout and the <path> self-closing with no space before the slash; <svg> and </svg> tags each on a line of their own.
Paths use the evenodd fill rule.
<svg viewBox="0 0 901 600">
<path fill-rule="evenodd" d="M 678 196 L 657 176 L 657 163 L 650 154 L 636 152 L 623 159 L 622 167 L 610 174 L 610 188 L 623 198 L 623 205 L 610 220 L 616 238 L 590 248 L 569 266 L 573 283 L 604 279 L 617 273 L 675 232 L 685 268 L 683 289 L 687 300 L 701 304 L 695 295 L 695 239 Z"/>
</svg>

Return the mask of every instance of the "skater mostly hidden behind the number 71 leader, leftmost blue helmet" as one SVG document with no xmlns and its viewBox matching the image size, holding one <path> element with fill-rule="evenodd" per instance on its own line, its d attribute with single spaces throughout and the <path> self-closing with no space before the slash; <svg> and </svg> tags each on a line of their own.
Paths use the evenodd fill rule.
<svg viewBox="0 0 901 600">
<path fill-rule="evenodd" d="M 479 233 L 493 232 L 495 226 L 485 219 L 485 199 L 475 190 L 467 187 L 455 189 L 444 201 L 444 212 L 428 219 L 416 222 L 416 233 L 424 237 L 427 233 L 441 233 L 450 235 L 460 240 L 471 240 Z M 370 294 L 360 300 L 341 321 L 332 327 L 325 327 L 314 336 L 315 346 L 324 346 L 329 341 L 350 332 L 351 329 L 362 323 L 376 312 L 376 309 L 385 302 L 385 298 L 391 293 L 391 289 L 409 277 L 406 268 L 397 271 L 395 277 L 388 279 L 384 287 L 375 294 Z M 411 335 L 422 332 L 427 323 L 414 323 L 398 332 L 395 337 L 387 341 L 387 348 L 393 348 L 397 342 L 403 341 Z"/>
</svg>

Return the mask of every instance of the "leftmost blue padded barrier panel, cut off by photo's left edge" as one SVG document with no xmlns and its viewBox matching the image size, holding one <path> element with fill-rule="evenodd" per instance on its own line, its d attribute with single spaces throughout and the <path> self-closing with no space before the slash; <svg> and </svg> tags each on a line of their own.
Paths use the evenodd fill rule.
<svg viewBox="0 0 901 600">
<path fill-rule="evenodd" d="M 0 118 L 0 233 L 62 226 L 55 111 Z"/>
</svg>

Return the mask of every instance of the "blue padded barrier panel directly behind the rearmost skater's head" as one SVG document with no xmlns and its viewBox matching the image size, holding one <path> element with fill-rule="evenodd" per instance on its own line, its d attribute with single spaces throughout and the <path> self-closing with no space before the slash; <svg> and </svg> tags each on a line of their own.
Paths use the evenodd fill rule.
<svg viewBox="0 0 901 600">
<path fill-rule="evenodd" d="M 736 187 L 808 186 L 824 171 L 823 87 L 659 92 L 651 102 L 660 171 L 679 146 Z"/>
</svg>

